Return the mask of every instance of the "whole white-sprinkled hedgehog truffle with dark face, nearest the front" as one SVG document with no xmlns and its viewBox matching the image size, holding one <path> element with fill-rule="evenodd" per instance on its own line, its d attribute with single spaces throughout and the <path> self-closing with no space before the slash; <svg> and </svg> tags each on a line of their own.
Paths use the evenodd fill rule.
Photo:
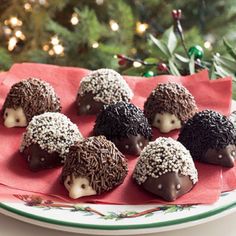
<svg viewBox="0 0 236 236">
<path fill-rule="evenodd" d="M 133 178 L 145 190 L 174 201 L 189 192 L 198 173 L 189 151 L 171 138 L 158 138 L 141 152 Z"/>
</svg>

